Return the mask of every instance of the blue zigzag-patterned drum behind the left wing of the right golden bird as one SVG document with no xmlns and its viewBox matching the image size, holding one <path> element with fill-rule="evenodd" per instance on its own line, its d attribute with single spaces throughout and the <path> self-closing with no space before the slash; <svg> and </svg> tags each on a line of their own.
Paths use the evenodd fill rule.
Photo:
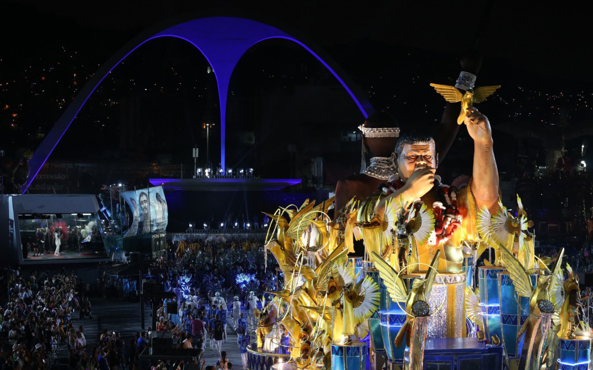
<svg viewBox="0 0 593 370">
<path fill-rule="evenodd" d="M 537 272 L 529 274 L 531 284 L 534 287 L 537 275 Z M 521 355 L 524 342 L 524 340 L 517 342 L 517 332 L 529 317 L 529 297 L 519 297 L 515 294 L 515 284 L 513 284 L 508 271 L 498 273 L 498 284 L 502 343 L 505 345 L 506 356 L 517 358 Z"/>
</svg>

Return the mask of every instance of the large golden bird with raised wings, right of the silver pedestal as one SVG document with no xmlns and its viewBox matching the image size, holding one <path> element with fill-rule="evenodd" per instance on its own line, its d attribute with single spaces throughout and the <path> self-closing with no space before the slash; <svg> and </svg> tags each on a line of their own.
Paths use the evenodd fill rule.
<svg viewBox="0 0 593 370">
<path fill-rule="evenodd" d="M 541 353 L 550 330 L 552 317 L 562 305 L 562 301 L 559 301 L 562 298 L 554 293 L 562 290 L 564 276 L 560 263 L 562 263 L 564 249 L 560 250 L 550 275 L 538 276 L 535 287 L 531 284 L 527 270 L 511 251 L 502 244 L 500 244 L 499 250 L 509 277 L 515 285 L 515 292 L 521 297 L 530 298 L 530 315 L 517 333 L 517 340 L 525 334 L 525 344 L 521 351 L 519 368 L 539 370 Z"/>
</svg>

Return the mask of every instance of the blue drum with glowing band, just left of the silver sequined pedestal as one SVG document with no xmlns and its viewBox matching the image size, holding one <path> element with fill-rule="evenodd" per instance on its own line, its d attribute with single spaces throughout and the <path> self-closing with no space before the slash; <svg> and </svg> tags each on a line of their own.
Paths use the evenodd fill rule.
<svg viewBox="0 0 593 370">
<path fill-rule="evenodd" d="M 406 287 L 410 288 L 414 279 L 419 275 L 404 275 L 404 283 Z M 379 279 L 379 290 L 381 292 L 379 303 L 379 319 L 381 323 L 381 334 L 385 348 L 385 354 L 392 363 L 403 363 L 405 345 L 397 348 L 395 339 L 397 333 L 400 332 L 401 326 L 406 322 L 406 302 L 394 302 L 389 296 L 387 288 L 383 279 Z"/>
</svg>

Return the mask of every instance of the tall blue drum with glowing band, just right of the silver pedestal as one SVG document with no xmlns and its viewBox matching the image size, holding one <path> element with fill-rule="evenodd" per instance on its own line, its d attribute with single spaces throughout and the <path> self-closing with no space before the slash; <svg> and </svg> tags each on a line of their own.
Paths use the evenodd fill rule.
<svg viewBox="0 0 593 370">
<path fill-rule="evenodd" d="M 502 337 L 500 329 L 500 296 L 498 274 L 505 271 L 499 266 L 480 266 L 478 284 L 480 287 L 480 308 L 482 309 L 483 332 L 490 340 L 494 334 Z"/>
</svg>

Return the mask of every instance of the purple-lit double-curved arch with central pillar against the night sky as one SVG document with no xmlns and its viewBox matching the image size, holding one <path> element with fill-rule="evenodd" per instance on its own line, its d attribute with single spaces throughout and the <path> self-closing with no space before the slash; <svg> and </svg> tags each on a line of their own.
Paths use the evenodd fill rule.
<svg viewBox="0 0 593 370">
<path fill-rule="evenodd" d="M 157 37 L 177 37 L 186 40 L 202 52 L 212 67 L 216 81 L 218 82 L 218 96 L 221 108 L 222 168 L 226 167 L 227 94 L 232 72 L 243 54 L 250 47 L 269 38 L 284 38 L 302 46 L 307 52 L 317 58 L 336 77 L 337 81 L 344 86 L 365 118 L 368 117 L 369 112 L 372 112 L 372 107 L 366 96 L 356 91 L 355 85 L 351 81 L 348 80 L 348 84 L 346 84 L 347 77 L 345 73 L 340 72 L 342 77 L 338 75 L 336 71 L 339 70 L 339 67 L 336 63 L 332 62 L 321 50 L 314 51 L 311 47 L 291 37 L 289 34 L 278 30 L 278 28 L 257 21 L 234 17 L 199 18 L 186 22 L 176 22 L 174 25 L 167 24 L 157 28 L 160 29 L 145 31 L 129 41 L 129 43 L 107 60 L 85 84 L 81 92 L 68 106 L 62 117 L 59 118 L 52 130 L 49 131 L 45 139 L 35 150 L 33 158 L 29 161 L 31 176 L 27 179 L 27 183 L 23 187 L 23 192 L 31 185 L 31 182 L 37 176 L 37 173 L 39 173 L 47 158 L 58 145 L 58 142 L 62 139 L 62 136 L 66 133 L 74 118 L 76 118 L 76 114 L 78 114 L 103 79 L 130 53 L 138 49 L 139 46 Z"/>
</svg>

